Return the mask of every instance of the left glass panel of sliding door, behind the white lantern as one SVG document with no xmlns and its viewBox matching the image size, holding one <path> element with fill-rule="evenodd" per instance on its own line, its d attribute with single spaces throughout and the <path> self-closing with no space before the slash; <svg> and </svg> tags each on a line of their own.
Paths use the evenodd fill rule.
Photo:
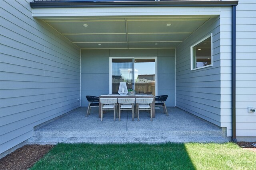
<svg viewBox="0 0 256 170">
<path fill-rule="evenodd" d="M 112 59 L 112 94 L 118 94 L 120 82 L 133 88 L 133 59 Z"/>
</svg>

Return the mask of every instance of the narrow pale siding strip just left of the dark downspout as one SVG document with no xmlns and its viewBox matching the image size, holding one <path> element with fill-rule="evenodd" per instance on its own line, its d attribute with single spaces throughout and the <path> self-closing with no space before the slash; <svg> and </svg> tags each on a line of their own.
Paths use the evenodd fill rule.
<svg viewBox="0 0 256 170">
<path fill-rule="evenodd" d="M 229 14 L 228 14 L 229 13 Z M 231 8 L 222 9 L 220 18 L 220 66 L 221 66 L 221 125 L 220 127 L 227 128 L 227 135 L 232 136 L 232 102 L 231 102 L 231 77 L 232 77 L 232 54 L 231 54 L 231 24 L 232 24 L 232 11 Z"/>
</svg>

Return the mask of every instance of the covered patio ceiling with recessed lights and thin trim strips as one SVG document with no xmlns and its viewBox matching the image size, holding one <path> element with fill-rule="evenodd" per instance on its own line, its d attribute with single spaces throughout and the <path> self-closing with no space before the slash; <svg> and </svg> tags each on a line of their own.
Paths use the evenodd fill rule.
<svg viewBox="0 0 256 170">
<path fill-rule="evenodd" d="M 210 16 L 117 16 L 44 21 L 81 49 L 152 49 L 177 47 L 209 19 Z M 168 23 L 170 26 L 166 26 Z"/>
</svg>

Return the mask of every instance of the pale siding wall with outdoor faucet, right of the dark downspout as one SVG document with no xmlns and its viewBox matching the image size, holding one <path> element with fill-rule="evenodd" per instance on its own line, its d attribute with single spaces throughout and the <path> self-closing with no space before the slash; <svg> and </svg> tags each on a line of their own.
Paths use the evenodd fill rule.
<svg viewBox="0 0 256 170">
<path fill-rule="evenodd" d="M 236 135 L 256 140 L 256 1 L 240 0 L 236 7 Z M 247 139 L 250 139 L 247 138 Z"/>
</svg>

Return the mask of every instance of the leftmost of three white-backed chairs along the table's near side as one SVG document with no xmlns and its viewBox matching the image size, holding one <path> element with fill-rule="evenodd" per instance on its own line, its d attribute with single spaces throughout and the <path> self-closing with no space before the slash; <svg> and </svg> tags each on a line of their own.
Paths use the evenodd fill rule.
<svg viewBox="0 0 256 170">
<path fill-rule="evenodd" d="M 114 121 L 116 121 L 116 103 L 117 98 L 100 98 L 101 103 L 101 121 L 103 118 L 103 111 L 114 110 Z"/>
</svg>

